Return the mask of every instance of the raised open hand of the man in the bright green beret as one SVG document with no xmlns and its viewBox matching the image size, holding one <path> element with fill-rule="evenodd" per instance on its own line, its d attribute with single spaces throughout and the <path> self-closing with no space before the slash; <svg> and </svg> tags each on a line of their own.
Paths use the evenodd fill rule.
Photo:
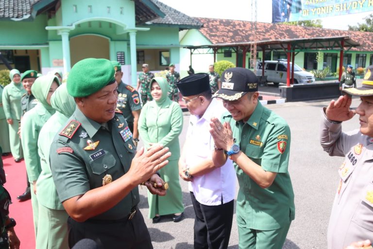
<svg viewBox="0 0 373 249">
<path fill-rule="evenodd" d="M 155 172 L 166 166 L 169 163 L 166 159 L 170 156 L 169 148 L 163 148 L 161 144 L 152 145 L 146 152 L 144 152 L 144 147 L 141 147 L 132 160 L 131 168 L 127 174 L 130 174 L 138 185 L 147 181 Z"/>
</svg>

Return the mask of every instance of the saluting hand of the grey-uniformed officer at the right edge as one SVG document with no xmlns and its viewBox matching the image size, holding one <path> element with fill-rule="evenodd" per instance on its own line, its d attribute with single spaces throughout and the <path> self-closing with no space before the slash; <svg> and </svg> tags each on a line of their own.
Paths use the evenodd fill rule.
<svg viewBox="0 0 373 249">
<path fill-rule="evenodd" d="M 350 106 L 352 98 L 348 95 L 339 96 L 338 100 L 332 100 L 326 107 L 326 117 L 333 121 L 347 121 L 355 115 L 355 110 L 351 110 Z"/>
</svg>

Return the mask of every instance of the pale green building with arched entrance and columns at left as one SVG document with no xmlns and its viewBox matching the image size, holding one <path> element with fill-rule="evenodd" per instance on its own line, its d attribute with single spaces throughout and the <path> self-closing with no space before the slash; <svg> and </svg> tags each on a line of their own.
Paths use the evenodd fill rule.
<svg viewBox="0 0 373 249">
<path fill-rule="evenodd" d="M 158 0 L 0 0 L 0 70 L 70 71 L 79 60 L 118 60 L 123 81 L 180 65 L 179 31 L 202 24 Z"/>
</svg>

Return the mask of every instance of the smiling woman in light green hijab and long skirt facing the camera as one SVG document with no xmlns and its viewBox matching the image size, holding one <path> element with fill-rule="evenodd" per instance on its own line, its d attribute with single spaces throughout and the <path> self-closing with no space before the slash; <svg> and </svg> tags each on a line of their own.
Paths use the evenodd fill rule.
<svg viewBox="0 0 373 249">
<path fill-rule="evenodd" d="M 159 143 L 170 148 L 169 163 L 159 170 L 160 177 L 169 184 L 166 196 L 148 193 L 149 218 L 159 222 L 160 215 L 174 214 L 173 221 L 181 220 L 184 205 L 179 183 L 178 160 L 180 158 L 179 135 L 183 128 L 183 112 L 178 103 L 168 96 L 168 83 L 163 77 L 151 80 L 149 88 L 153 100 L 142 108 L 139 118 L 139 133 L 146 148 Z"/>
</svg>

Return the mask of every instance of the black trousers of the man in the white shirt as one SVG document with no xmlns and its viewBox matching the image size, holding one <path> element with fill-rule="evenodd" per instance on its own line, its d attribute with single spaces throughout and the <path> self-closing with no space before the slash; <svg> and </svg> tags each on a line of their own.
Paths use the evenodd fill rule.
<svg viewBox="0 0 373 249">
<path fill-rule="evenodd" d="M 231 236 L 234 200 L 207 206 L 190 192 L 194 213 L 194 249 L 226 249 Z"/>
</svg>

